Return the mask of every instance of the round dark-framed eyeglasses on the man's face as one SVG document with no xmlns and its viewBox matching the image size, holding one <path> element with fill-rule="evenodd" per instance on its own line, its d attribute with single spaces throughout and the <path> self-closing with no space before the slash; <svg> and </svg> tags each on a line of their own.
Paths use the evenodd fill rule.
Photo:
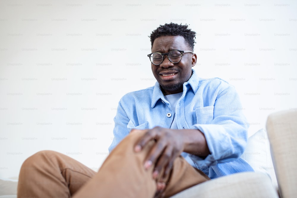
<svg viewBox="0 0 297 198">
<path fill-rule="evenodd" d="M 164 56 L 167 55 L 168 59 L 172 63 L 178 63 L 181 61 L 181 58 L 183 57 L 184 53 L 193 53 L 192 51 L 181 51 L 181 50 L 172 50 L 168 53 L 160 53 L 160 52 L 154 52 L 151 54 L 148 54 L 148 57 L 152 64 L 159 65 L 164 61 Z"/>
</svg>

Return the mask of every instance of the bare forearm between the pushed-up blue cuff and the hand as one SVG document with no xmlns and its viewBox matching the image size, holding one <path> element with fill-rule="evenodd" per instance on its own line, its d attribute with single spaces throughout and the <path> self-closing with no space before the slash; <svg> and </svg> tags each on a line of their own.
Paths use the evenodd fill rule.
<svg viewBox="0 0 297 198">
<path fill-rule="evenodd" d="M 205 157 L 210 154 L 204 134 L 197 129 L 181 129 L 184 152 Z"/>
</svg>

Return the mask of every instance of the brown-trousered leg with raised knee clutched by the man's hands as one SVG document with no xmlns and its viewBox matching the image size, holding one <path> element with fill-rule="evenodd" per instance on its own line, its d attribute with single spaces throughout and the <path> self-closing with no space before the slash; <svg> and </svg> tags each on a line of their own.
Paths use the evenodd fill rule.
<svg viewBox="0 0 297 198">
<path fill-rule="evenodd" d="M 157 184 L 152 178 L 153 167 L 146 171 L 144 159 L 155 143 L 153 140 L 139 153 L 134 152 L 142 132 L 129 134 L 107 157 L 98 173 L 75 195 L 81 197 L 149 197 L 156 193 Z M 181 156 L 173 164 L 170 178 L 166 182 L 165 197 L 209 180 L 201 171 L 194 169 Z"/>
</svg>

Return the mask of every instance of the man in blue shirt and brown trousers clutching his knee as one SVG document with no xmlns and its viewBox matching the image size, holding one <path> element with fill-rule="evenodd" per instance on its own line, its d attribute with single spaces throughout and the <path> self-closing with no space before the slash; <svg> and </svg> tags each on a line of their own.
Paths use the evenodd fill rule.
<svg viewBox="0 0 297 198">
<path fill-rule="evenodd" d="M 110 155 L 98 173 L 42 151 L 24 162 L 18 197 L 170 197 L 209 179 L 253 171 L 240 158 L 247 122 L 234 87 L 199 79 L 192 70 L 195 32 L 170 23 L 150 38 L 157 83 L 120 100 Z"/>
</svg>

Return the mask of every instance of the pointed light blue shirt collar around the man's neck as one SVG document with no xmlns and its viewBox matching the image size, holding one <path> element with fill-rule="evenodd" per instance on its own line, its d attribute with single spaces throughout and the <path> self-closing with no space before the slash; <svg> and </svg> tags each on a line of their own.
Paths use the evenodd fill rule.
<svg viewBox="0 0 297 198">
<path fill-rule="evenodd" d="M 195 94 L 196 91 L 198 90 L 198 83 L 199 83 L 199 77 L 197 76 L 195 70 L 192 69 L 192 76 L 187 82 L 184 83 L 183 91 L 187 91 L 187 85 L 190 85 L 190 87 L 192 88 Z M 161 99 L 162 101 L 165 100 L 162 90 L 160 88 L 160 84 L 156 82 L 153 90 L 152 99 L 151 99 L 151 108 L 154 108 L 154 106 L 156 105 L 159 99 Z"/>
</svg>

